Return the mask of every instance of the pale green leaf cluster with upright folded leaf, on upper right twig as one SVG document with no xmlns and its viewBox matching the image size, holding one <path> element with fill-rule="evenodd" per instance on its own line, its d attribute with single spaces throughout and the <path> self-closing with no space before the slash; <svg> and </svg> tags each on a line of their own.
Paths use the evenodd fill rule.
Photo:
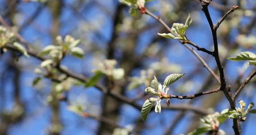
<svg viewBox="0 0 256 135">
<path fill-rule="evenodd" d="M 191 22 L 192 19 L 190 18 L 190 15 L 188 15 L 185 24 L 174 23 L 170 29 L 170 33 L 158 33 L 158 35 L 164 38 L 179 39 L 186 42 L 188 40 L 186 31 Z"/>
</svg>

